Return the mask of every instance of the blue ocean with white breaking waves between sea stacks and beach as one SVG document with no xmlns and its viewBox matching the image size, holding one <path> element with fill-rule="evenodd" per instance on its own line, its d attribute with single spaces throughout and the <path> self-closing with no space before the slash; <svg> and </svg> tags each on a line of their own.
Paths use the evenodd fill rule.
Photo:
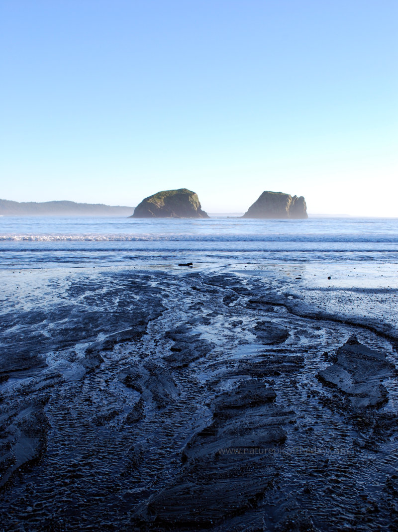
<svg viewBox="0 0 398 532">
<path fill-rule="evenodd" d="M 0 268 L 398 262 L 398 218 L 0 217 Z"/>
</svg>

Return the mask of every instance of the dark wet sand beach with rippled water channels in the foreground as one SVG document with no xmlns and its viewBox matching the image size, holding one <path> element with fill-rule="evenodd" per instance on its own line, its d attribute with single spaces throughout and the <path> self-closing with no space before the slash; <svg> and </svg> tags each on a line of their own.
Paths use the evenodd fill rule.
<svg viewBox="0 0 398 532">
<path fill-rule="evenodd" d="M 398 529 L 397 269 L 7 272 L 0 530 Z"/>
</svg>

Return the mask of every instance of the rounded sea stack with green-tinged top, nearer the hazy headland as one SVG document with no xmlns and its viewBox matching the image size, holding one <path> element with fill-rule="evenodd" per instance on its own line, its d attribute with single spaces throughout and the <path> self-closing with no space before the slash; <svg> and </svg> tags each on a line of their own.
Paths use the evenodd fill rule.
<svg viewBox="0 0 398 532">
<path fill-rule="evenodd" d="M 163 190 L 145 198 L 130 218 L 209 218 L 197 194 L 187 188 Z"/>
</svg>

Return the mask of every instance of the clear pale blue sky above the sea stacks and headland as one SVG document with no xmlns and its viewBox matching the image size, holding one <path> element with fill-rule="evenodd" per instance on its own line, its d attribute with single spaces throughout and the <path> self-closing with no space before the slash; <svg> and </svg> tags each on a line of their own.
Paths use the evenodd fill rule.
<svg viewBox="0 0 398 532">
<path fill-rule="evenodd" d="M 0 197 L 398 217 L 396 0 L 1 0 Z"/>
</svg>

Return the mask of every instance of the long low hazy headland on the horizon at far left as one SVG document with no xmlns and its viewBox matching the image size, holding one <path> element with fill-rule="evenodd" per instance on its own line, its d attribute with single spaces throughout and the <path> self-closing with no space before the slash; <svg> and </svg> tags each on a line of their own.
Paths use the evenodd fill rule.
<svg viewBox="0 0 398 532">
<path fill-rule="evenodd" d="M 134 207 L 73 201 L 17 202 L 0 200 L 0 215 L 9 216 L 129 216 Z"/>
</svg>

